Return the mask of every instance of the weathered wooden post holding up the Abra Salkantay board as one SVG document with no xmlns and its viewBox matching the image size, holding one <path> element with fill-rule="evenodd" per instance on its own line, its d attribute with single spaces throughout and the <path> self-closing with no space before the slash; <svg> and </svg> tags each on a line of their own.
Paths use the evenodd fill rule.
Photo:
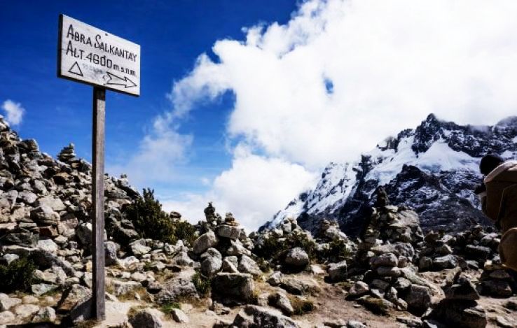
<svg viewBox="0 0 517 328">
<path fill-rule="evenodd" d="M 92 139 L 92 318 L 104 320 L 104 120 L 106 90 L 93 87 Z"/>
</svg>

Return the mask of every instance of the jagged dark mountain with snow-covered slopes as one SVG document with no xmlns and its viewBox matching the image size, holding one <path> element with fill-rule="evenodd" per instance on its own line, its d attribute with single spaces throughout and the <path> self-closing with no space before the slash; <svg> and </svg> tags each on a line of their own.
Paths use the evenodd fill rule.
<svg viewBox="0 0 517 328">
<path fill-rule="evenodd" d="M 379 186 L 385 186 L 392 204 L 415 209 L 424 229 L 461 231 L 490 224 L 474 194 L 482 180 L 478 164 L 488 152 L 517 156 L 517 117 L 489 127 L 443 122 L 431 114 L 357 162 L 329 164 L 314 190 L 291 201 L 264 227 L 293 217 L 315 231 L 320 219 L 329 218 L 347 234 L 357 234 Z"/>
</svg>

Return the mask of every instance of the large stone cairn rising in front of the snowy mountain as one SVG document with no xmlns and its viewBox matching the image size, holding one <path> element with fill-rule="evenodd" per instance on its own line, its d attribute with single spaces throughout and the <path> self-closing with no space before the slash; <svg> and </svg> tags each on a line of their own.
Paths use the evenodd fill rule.
<svg viewBox="0 0 517 328">
<path fill-rule="evenodd" d="M 347 297 L 373 311 L 385 313 L 397 308 L 422 315 L 439 290 L 418 276 L 413 266 L 418 254 L 415 248 L 423 240 L 418 215 L 407 208 L 391 206 L 382 190 L 378 190 L 375 205 L 348 271 L 338 275 L 336 266 L 329 266 L 329 278 L 355 281 Z"/>
</svg>

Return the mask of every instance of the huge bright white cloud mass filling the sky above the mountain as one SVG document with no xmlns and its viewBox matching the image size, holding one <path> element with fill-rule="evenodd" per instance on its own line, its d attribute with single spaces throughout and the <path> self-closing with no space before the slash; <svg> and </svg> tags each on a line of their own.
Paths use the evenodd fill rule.
<svg viewBox="0 0 517 328">
<path fill-rule="evenodd" d="M 174 83 L 171 115 L 233 92 L 228 138 L 247 152 L 191 199 L 221 199 L 256 227 L 285 205 L 268 201 L 429 113 L 470 124 L 515 115 L 516 15 L 513 0 L 311 0 L 287 24 L 216 41 L 216 60 L 200 55 Z"/>
</svg>

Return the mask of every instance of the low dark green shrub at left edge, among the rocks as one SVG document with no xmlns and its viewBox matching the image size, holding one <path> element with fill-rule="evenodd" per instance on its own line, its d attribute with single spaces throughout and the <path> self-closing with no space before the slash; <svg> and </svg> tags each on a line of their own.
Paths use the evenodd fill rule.
<svg viewBox="0 0 517 328">
<path fill-rule="evenodd" d="M 20 257 L 8 265 L 0 265 L 0 292 L 25 292 L 35 283 L 34 270 L 36 265 L 32 259 Z"/>
</svg>

